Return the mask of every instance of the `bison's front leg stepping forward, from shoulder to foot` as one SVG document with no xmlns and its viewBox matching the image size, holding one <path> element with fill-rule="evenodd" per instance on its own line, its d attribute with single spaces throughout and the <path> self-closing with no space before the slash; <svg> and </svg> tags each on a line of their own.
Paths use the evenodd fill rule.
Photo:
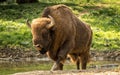
<svg viewBox="0 0 120 75">
<path fill-rule="evenodd" d="M 51 70 L 63 70 L 63 63 L 69 51 L 73 48 L 73 42 L 66 41 L 60 48 L 57 54 L 57 60 Z"/>
</svg>

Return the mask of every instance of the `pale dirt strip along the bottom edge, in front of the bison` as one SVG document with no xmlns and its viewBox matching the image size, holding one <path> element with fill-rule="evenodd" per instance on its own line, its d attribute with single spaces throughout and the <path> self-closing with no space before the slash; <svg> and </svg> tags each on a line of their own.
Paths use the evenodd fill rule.
<svg viewBox="0 0 120 75">
<path fill-rule="evenodd" d="M 120 70 L 31 71 L 12 75 L 120 75 Z"/>
</svg>

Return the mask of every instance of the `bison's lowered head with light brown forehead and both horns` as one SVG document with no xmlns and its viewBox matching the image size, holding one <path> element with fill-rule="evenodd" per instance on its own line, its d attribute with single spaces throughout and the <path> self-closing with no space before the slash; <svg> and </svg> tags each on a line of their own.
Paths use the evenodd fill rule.
<svg viewBox="0 0 120 75">
<path fill-rule="evenodd" d="M 51 16 L 49 18 L 37 18 L 31 24 L 27 20 L 27 25 L 31 28 L 33 46 L 41 54 L 45 54 L 52 42 L 50 31 L 54 27 L 54 19 Z"/>
</svg>

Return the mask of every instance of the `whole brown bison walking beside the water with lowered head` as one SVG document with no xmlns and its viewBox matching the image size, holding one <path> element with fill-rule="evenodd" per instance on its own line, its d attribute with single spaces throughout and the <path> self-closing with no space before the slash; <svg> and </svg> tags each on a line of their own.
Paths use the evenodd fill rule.
<svg viewBox="0 0 120 75">
<path fill-rule="evenodd" d="M 76 63 L 77 69 L 86 69 L 92 41 L 90 26 L 80 21 L 66 5 L 44 9 L 41 18 L 27 25 L 31 28 L 33 45 L 41 54 L 47 54 L 55 63 L 51 70 L 62 70 L 67 58 Z"/>
</svg>

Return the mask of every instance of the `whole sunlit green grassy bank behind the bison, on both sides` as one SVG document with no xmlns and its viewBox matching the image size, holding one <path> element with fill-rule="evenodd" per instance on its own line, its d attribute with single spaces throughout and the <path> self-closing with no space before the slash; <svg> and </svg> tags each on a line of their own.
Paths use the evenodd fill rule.
<svg viewBox="0 0 120 75">
<path fill-rule="evenodd" d="M 0 5 L 0 47 L 30 48 L 32 35 L 25 25 L 26 19 L 40 17 L 45 7 L 61 3 L 71 7 L 74 14 L 92 27 L 92 50 L 120 49 L 120 6 L 117 0 L 93 0 L 89 3 L 84 0 L 75 3 L 69 0 L 63 2 L 47 0 L 46 3 L 2 4 Z"/>
</svg>

